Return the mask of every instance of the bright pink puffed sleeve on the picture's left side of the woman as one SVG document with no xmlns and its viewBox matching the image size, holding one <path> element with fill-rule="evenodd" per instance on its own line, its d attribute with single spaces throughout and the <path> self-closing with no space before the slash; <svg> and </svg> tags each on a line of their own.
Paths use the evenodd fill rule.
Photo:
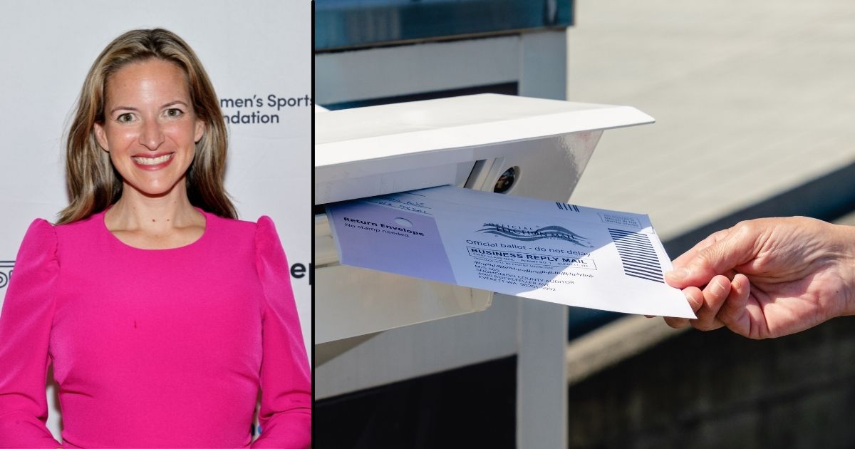
<svg viewBox="0 0 855 449">
<path fill-rule="evenodd" d="M 0 312 L 0 447 L 57 447 L 44 422 L 48 340 L 59 273 L 56 232 L 32 222 Z"/>
</svg>

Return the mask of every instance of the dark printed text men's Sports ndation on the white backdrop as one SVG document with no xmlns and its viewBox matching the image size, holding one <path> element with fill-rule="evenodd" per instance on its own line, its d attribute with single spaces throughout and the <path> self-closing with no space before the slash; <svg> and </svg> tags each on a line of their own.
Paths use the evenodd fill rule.
<svg viewBox="0 0 855 449">
<path fill-rule="evenodd" d="M 270 93 L 220 98 L 222 116 L 232 125 L 274 125 L 280 123 L 283 109 L 311 108 L 313 104 L 308 94 L 303 97 L 280 97 Z"/>
</svg>

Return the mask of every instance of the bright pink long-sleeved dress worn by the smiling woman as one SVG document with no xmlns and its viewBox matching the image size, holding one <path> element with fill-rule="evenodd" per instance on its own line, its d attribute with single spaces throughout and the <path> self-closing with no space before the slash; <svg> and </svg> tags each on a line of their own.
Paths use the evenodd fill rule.
<svg viewBox="0 0 855 449">
<path fill-rule="evenodd" d="M 273 222 L 203 212 L 200 239 L 141 250 L 103 212 L 32 222 L 0 313 L 0 447 L 310 446 L 310 369 Z"/>
</svg>

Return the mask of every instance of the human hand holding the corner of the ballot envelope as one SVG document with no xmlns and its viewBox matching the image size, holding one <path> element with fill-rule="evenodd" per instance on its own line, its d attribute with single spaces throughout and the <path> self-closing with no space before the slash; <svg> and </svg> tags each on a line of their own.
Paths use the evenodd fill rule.
<svg viewBox="0 0 855 449">
<path fill-rule="evenodd" d="M 672 328 L 793 334 L 855 314 L 855 227 L 806 217 L 740 222 L 677 257 L 665 281 L 698 316 L 666 317 Z"/>
</svg>

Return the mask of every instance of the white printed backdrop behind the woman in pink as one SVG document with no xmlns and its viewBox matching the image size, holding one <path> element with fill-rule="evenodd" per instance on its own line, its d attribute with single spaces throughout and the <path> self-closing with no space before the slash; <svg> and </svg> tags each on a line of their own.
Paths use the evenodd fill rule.
<svg viewBox="0 0 855 449">
<path fill-rule="evenodd" d="M 91 62 L 122 32 L 164 27 L 197 52 L 221 98 L 228 192 L 241 219 L 276 223 L 308 351 L 310 14 L 306 0 L 0 0 L 0 304 L 29 223 L 68 204 L 62 138 Z"/>
</svg>

